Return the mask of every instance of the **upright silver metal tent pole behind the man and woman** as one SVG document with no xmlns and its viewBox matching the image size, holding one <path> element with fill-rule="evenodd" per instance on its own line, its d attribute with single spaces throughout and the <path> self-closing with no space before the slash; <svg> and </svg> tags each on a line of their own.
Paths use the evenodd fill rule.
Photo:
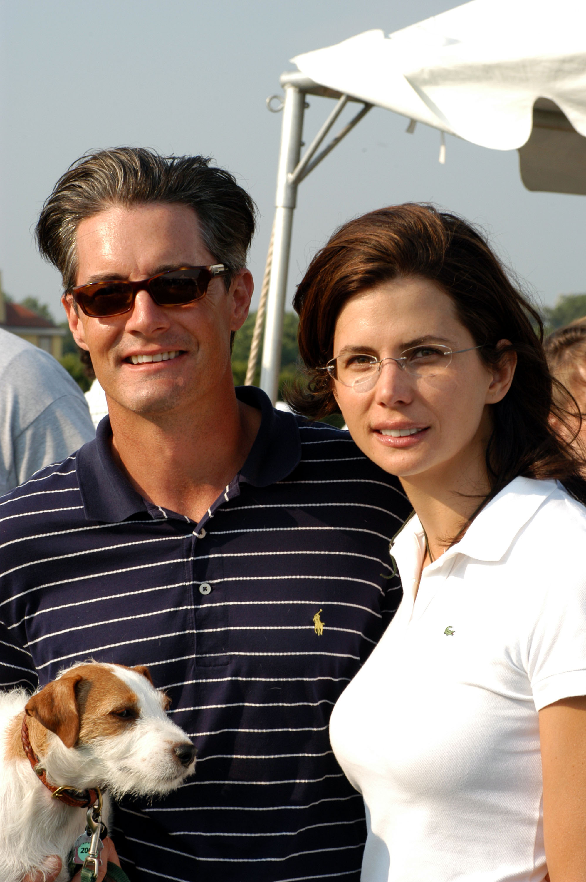
<svg viewBox="0 0 586 882">
<path fill-rule="evenodd" d="M 271 282 L 267 298 L 266 320 L 264 325 L 263 361 L 261 364 L 261 389 L 267 393 L 272 403 L 277 400 L 278 374 L 281 366 L 283 343 L 283 314 L 291 234 L 293 230 L 293 211 L 297 200 L 297 183 L 290 180 L 301 151 L 301 132 L 305 93 L 297 86 L 286 84 L 283 106 L 283 125 L 281 146 L 278 156 L 277 198 L 275 200 L 274 242 L 271 262 Z"/>
</svg>

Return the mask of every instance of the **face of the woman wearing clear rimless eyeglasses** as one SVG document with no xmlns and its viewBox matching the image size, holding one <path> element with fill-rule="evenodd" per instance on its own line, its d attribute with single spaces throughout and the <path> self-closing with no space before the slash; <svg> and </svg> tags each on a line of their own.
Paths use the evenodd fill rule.
<svg viewBox="0 0 586 882">
<path fill-rule="evenodd" d="M 384 282 L 345 303 L 334 355 L 398 358 L 419 343 L 454 352 L 476 346 L 449 295 L 433 281 L 411 277 Z M 505 361 L 514 363 L 514 356 Z M 471 465 L 486 474 L 488 405 L 504 397 L 513 370 L 488 369 L 472 350 L 453 355 L 432 377 L 414 377 L 385 362 L 368 392 L 332 382 L 348 429 L 369 459 L 392 475 L 427 473 L 450 480 L 450 473 L 468 472 Z"/>
</svg>

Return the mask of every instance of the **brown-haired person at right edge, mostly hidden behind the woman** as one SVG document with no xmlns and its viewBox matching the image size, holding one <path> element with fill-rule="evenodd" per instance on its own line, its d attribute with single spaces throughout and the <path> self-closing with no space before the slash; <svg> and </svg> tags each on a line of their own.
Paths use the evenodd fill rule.
<svg viewBox="0 0 586 882">
<path fill-rule="evenodd" d="M 560 385 L 553 390 L 553 399 L 559 407 L 565 407 L 567 389 L 577 406 L 578 419 L 574 421 L 569 433 L 565 426 L 558 426 L 553 419 L 554 428 L 561 431 L 570 444 L 575 445 L 576 452 L 583 460 L 586 459 L 586 318 L 578 318 L 567 327 L 559 328 L 546 338 L 545 356 L 552 376 Z M 568 422 L 573 422 L 571 415 Z M 582 475 L 586 466 L 582 466 Z"/>
</svg>

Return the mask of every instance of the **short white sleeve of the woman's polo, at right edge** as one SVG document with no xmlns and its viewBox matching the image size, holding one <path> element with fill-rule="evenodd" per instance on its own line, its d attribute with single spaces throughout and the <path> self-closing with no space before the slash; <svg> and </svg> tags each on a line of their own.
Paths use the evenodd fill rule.
<svg viewBox="0 0 586 882">
<path fill-rule="evenodd" d="M 574 563 L 575 572 L 547 579 L 530 633 L 528 674 L 538 710 L 586 695 L 586 566 L 576 565 L 578 557 L 575 551 L 564 561 L 567 569 Z"/>
</svg>

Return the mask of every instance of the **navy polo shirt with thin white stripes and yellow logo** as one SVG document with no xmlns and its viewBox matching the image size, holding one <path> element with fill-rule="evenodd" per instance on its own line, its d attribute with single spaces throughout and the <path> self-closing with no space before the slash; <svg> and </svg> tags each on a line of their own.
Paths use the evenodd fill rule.
<svg viewBox="0 0 586 882">
<path fill-rule="evenodd" d="M 108 418 L 0 500 L 0 682 L 93 658 L 168 692 L 197 768 L 116 810 L 131 879 L 358 882 L 364 808 L 328 722 L 397 608 L 389 539 L 411 506 L 347 432 L 237 395 L 261 428 L 198 524 L 133 490 Z"/>
</svg>

